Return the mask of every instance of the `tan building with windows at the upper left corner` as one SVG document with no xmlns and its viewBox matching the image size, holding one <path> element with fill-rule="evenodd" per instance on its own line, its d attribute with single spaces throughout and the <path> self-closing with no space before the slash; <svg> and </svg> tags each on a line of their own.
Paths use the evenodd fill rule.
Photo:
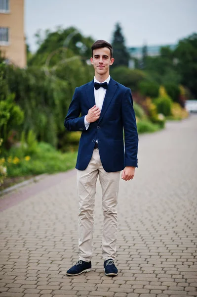
<svg viewBox="0 0 197 297">
<path fill-rule="evenodd" d="M 26 66 L 24 0 L 0 0 L 0 51 L 8 63 Z"/>
</svg>

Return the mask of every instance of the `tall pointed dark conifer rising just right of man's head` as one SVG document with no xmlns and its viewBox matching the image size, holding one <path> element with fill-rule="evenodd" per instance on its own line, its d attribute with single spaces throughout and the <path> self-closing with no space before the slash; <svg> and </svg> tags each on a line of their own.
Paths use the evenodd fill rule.
<svg viewBox="0 0 197 297">
<path fill-rule="evenodd" d="M 112 46 L 114 49 L 114 58 L 115 58 L 113 67 L 116 67 L 116 66 L 128 67 L 130 55 L 125 46 L 124 37 L 122 35 L 122 30 L 119 23 L 116 24 L 116 28 L 113 34 Z"/>
</svg>

